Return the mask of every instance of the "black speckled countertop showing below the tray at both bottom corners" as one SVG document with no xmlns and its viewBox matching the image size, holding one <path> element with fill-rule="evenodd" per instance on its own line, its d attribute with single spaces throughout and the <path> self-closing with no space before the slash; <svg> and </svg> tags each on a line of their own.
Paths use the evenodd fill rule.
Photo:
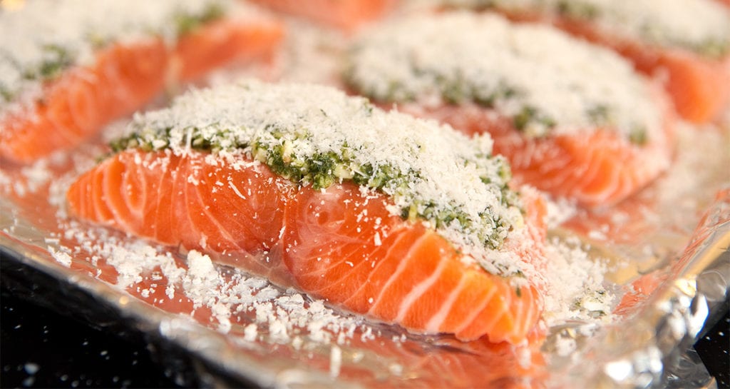
<svg viewBox="0 0 730 389">
<path fill-rule="evenodd" d="M 7 261 L 3 261 L 7 265 Z M 210 386 L 196 378 L 172 376 L 165 352 L 145 334 L 96 328 L 57 309 L 39 306 L 18 293 L 14 279 L 0 268 L 1 388 L 195 388 Z M 718 382 L 730 388 L 730 315 L 708 326 L 696 350 Z M 710 323 L 712 325 L 712 323 Z M 184 352 L 180 352 L 184 354 Z M 189 369 L 182 366 L 180 369 Z M 167 373 L 167 374 L 166 374 Z M 234 386 L 242 386 L 234 382 Z"/>
</svg>

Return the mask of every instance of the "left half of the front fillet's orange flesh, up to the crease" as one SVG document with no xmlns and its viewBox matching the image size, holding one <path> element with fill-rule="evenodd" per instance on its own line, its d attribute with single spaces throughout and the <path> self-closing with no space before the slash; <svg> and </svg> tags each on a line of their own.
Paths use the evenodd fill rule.
<svg viewBox="0 0 730 389">
<path fill-rule="evenodd" d="M 69 189 L 69 205 L 84 219 L 185 249 L 261 255 L 276 246 L 285 202 L 279 186 L 290 184 L 266 169 L 221 169 L 204 157 L 117 154 Z M 271 266 L 258 263 L 238 265 L 266 275 Z"/>
</svg>

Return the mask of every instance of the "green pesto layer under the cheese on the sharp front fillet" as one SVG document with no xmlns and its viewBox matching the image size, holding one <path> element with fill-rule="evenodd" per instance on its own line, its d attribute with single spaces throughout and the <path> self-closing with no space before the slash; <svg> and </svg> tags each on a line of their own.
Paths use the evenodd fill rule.
<svg viewBox="0 0 730 389">
<path fill-rule="evenodd" d="M 145 128 L 112 140 L 110 146 L 115 152 L 128 148 L 156 151 L 184 147 L 185 143 L 188 143 L 188 137 L 174 144 L 171 142 L 171 130 L 169 127 Z M 359 164 L 355 159 L 357 148 L 346 142 L 339 151 L 315 151 L 307 156 L 299 156 L 294 153 L 295 144 L 311 139 L 310 132 L 303 129 L 290 132 L 277 129 L 275 126 L 266 126 L 266 132 L 261 137 L 248 142 L 240 140 L 235 135 L 237 131 L 230 129 L 211 127 L 202 130 L 192 128 L 188 131 L 190 147 L 195 150 L 210 151 L 213 154 L 221 151 L 244 151 L 256 161 L 268 166 L 272 172 L 295 184 L 326 189 L 342 181 L 352 181 L 359 186 L 379 192 L 412 197 L 410 204 L 401 208 L 401 218 L 410 221 L 426 220 L 436 228 L 457 223 L 467 233 L 476 234 L 489 249 L 498 249 L 504 241 L 504 235 L 511 228 L 509 221 L 501 216 L 494 216 L 488 210 L 480 212 L 479 218 L 474 220 L 466 212 L 461 211 L 456 203 L 437 203 L 409 194 L 412 183 L 420 180 L 417 170 L 401 170 L 388 163 Z M 483 184 L 499 187 L 500 205 L 505 208 L 518 207 L 518 194 L 507 186 L 512 173 L 504 157 L 481 155 L 480 158 L 491 159 L 496 164 L 499 178 L 494 179 L 484 174 L 480 176 Z M 464 160 L 462 163 L 468 165 L 474 162 Z"/>
</svg>

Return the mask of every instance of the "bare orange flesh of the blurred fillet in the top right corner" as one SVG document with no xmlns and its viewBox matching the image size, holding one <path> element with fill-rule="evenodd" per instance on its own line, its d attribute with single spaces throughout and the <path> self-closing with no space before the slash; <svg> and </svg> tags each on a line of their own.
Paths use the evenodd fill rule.
<svg viewBox="0 0 730 389">
<path fill-rule="evenodd" d="M 728 4 L 726 0 L 720 1 Z M 693 6 L 714 5 L 702 4 L 703 2 L 712 3 L 711 0 L 700 0 Z M 724 37 L 713 38 L 718 39 L 713 44 L 726 45 L 724 53 L 720 56 L 708 56 L 677 42 L 656 43 L 648 38 L 637 37 L 636 34 L 627 32 L 628 28 L 616 20 L 599 22 L 599 18 L 590 15 L 591 12 L 612 12 L 610 1 L 604 5 L 586 5 L 585 1 L 556 1 L 548 5 L 540 1 L 529 5 L 496 1 L 488 7 L 483 7 L 480 1 L 475 1 L 474 4 L 480 8 L 502 12 L 515 21 L 549 23 L 577 37 L 615 50 L 628 58 L 639 72 L 661 80 L 672 97 L 677 113 L 688 121 L 707 123 L 717 119 L 730 107 L 730 53 L 727 49 L 730 30 L 727 27 Z M 661 7 L 660 2 L 656 4 Z M 576 11 L 571 11 L 571 7 L 575 7 Z M 595 11 L 582 15 L 577 11 L 580 7 Z M 722 7 L 716 11 L 715 14 L 724 15 L 724 23 L 730 25 L 730 12 Z M 689 8 L 684 16 L 694 18 Z M 701 25 L 703 20 L 689 20 L 689 23 L 684 24 L 691 23 Z M 645 31 L 657 34 L 651 26 L 645 26 Z M 690 32 L 685 34 L 685 37 L 691 35 Z"/>
</svg>

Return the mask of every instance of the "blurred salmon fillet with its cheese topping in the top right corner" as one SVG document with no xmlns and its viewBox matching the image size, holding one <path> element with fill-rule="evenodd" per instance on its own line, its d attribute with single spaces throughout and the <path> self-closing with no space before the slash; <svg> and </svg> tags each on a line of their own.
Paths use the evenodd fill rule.
<svg viewBox="0 0 730 389">
<path fill-rule="evenodd" d="M 718 119 L 730 107 L 730 11 L 720 5 L 727 5 L 726 0 L 720 0 L 718 4 L 713 0 L 677 1 L 669 6 L 655 1 L 653 4 L 658 9 L 650 10 L 650 5 L 637 4 L 633 12 L 626 11 L 628 15 L 623 15 L 624 7 L 620 4 L 615 7 L 616 4 L 610 1 L 526 1 L 520 4 L 493 1 L 488 6 L 481 1 L 444 2 L 456 7 L 502 12 L 515 21 L 551 24 L 615 50 L 629 59 L 639 72 L 661 80 L 677 113 L 685 120 L 707 123 Z M 661 8 L 667 11 L 663 12 Z M 696 12 L 699 10 L 702 13 Z M 652 21 L 655 14 L 661 16 Z M 708 14 L 712 20 L 706 20 Z M 613 17 L 603 18 L 602 15 Z M 635 20 L 645 20 L 642 29 L 649 32 L 633 31 L 631 25 Z M 724 30 L 716 31 L 718 34 L 707 37 L 706 42 L 695 42 L 706 47 L 688 45 L 696 31 L 679 30 L 693 25 L 693 29 L 697 29 L 710 22 Z M 671 39 L 656 38 L 673 28 L 677 31 Z M 708 54 L 703 50 L 712 51 Z"/>
</svg>

